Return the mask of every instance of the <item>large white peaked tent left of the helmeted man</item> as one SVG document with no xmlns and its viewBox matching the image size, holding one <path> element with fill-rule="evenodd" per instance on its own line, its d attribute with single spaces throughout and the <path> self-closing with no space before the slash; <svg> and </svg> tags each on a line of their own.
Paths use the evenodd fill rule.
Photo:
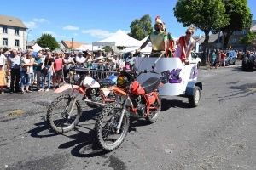
<svg viewBox="0 0 256 170">
<path fill-rule="evenodd" d="M 93 46 L 140 46 L 142 45 L 140 41 L 137 39 L 128 36 L 125 34 L 124 31 L 117 31 L 112 36 L 99 41 L 99 42 L 92 42 Z"/>
</svg>

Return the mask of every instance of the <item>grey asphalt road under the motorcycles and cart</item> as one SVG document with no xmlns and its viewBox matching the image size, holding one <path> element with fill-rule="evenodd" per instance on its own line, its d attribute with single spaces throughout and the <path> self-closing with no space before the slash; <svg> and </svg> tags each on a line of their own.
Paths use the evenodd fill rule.
<svg viewBox="0 0 256 170">
<path fill-rule="evenodd" d="M 1 94 L 0 169 L 256 169 L 255 71 L 241 71 L 240 61 L 202 67 L 198 80 L 198 107 L 186 98 L 162 99 L 158 121 L 131 118 L 125 142 L 107 154 L 94 140 L 99 110 L 83 104 L 77 129 L 56 134 L 44 116 L 59 94 Z"/>
</svg>

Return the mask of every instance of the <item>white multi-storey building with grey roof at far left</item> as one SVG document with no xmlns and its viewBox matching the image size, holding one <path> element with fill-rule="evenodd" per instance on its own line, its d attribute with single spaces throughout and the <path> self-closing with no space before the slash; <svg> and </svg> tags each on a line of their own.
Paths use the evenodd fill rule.
<svg viewBox="0 0 256 170">
<path fill-rule="evenodd" d="M 26 29 L 20 19 L 0 14 L 0 47 L 26 49 Z"/>
</svg>

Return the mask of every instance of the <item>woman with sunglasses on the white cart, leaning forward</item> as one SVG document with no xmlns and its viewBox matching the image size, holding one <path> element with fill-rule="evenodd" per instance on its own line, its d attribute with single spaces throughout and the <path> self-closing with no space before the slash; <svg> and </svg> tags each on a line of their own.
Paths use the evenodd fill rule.
<svg viewBox="0 0 256 170">
<path fill-rule="evenodd" d="M 190 65 L 189 55 L 195 46 L 195 40 L 192 38 L 194 32 L 195 26 L 189 26 L 186 35 L 179 37 L 177 42 L 177 49 L 175 50 L 174 57 L 180 58 L 185 65 Z"/>
</svg>

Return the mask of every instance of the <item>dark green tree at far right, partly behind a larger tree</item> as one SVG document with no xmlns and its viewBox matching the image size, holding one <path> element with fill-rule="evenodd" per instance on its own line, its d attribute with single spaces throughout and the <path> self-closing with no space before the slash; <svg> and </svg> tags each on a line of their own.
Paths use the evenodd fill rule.
<svg viewBox="0 0 256 170">
<path fill-rule="evenodd" d="M 251 26 L 253 14 L 248 8 L 247 0 L 223 0 L 223 3 L 226 9 L 225 14 L 229 14 L 230 18 L 230 24 L 221 28 L 225 49 L 234 31 L 243 31 Z"/>
</svg>

